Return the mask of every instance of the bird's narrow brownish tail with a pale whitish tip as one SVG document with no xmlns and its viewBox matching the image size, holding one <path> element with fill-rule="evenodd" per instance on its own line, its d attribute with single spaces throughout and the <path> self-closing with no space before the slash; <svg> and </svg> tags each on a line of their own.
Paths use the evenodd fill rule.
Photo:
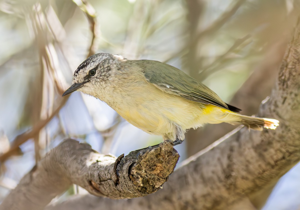
<svg viewBox="0 0 300 210">
<path fill-rule="evenodd" d="M 235 115 L 234 118 L 236 120 L 227 123 L 232 125 L 242 124 L 244 126 L 247 126 L 249 129 L 251 128 L 253 130 L 262 130 L 262 128 L 276 129 L 276 127 L 279 125 L 279 121 L 275 119 L 249 117 L 233 112 L 230 112 L 230 115 Z"/>
</svg>

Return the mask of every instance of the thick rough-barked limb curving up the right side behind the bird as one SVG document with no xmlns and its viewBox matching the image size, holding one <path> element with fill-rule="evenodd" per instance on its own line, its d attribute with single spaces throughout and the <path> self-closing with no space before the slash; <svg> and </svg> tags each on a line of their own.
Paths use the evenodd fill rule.
<svg viewBox="0 0 300 210">
<path fill-rule="evenodd" d="M 185 161 L 163 190 L 143 198 L 79 196 L 47 209 L 226 209 L 271 186 L 300 160 L 299 25 L 283 58 L 270 99 L 259 116 L 276 118 L 276 130 L 246 128 Z"/>
</svg>

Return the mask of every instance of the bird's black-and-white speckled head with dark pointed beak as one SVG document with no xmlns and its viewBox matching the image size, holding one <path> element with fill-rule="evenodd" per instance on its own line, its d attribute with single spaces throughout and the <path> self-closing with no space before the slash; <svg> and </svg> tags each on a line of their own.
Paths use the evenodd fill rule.
<svg viewBox="0 0 300 210">
<path fill-rule="evenodd" d="M 124 57 L 109 53 L 99 53 L 88 57 L 73 75 L 72 86 L 62 96 L 76 90 L 97 97 L 116 74 Z"/>
</svg>

